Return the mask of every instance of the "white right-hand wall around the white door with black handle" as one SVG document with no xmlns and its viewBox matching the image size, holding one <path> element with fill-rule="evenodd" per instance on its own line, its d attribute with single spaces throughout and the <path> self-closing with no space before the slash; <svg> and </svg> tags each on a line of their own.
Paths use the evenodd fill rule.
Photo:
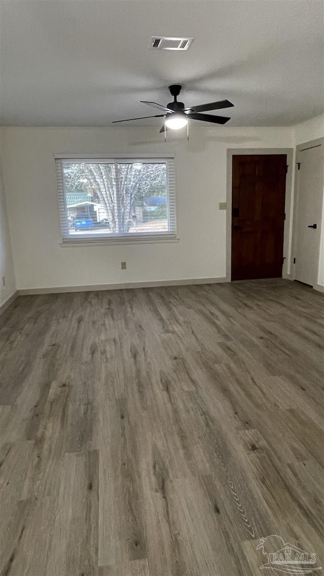
<svg viewBox="0 0 324 576">
<path fill-rule="evenodd" d="M 317 116 L 312 120 L 297 124 L 294 128 L 294 144 L 298 146 L 304 142 L 311 142 L 324 137 L 324 115 Z M 318 283 L 315 289 L 324 291 L 324 190 L 323 190 L 323 210 L 321 225 L 321 245 L 319 251 Z"/>
</svg>

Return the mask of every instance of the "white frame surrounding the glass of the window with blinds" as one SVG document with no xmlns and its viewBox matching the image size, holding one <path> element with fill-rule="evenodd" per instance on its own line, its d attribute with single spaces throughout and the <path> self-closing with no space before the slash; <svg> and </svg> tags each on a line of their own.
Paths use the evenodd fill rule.
<svg viewBox="0 0 324 576">
<path fill-rule="evenodd" d="M 168 222 L 171 230 L 161 232 L 144 232 L 144 233 L 111 233 L 91 234 L 72 237 L 69 234 L 69 224 L 67 218 L 67 206 L 65 192 L 63 189 L 63 164 L 71 162 L 126 162 L 134 163 L 165 163 L 167 165 L 167 185 L 168 185 Z M 146 244 L 155 242 L 177 242 L 177 218 L 176 218 L 176 193 L 175 193 L 175 155 L 172 153 L 164 154 L 54 154 L 56 188 L 58 190 L 59 219 L 61 222 L 62 243 L 61 246 L 76 245 L 103 245 L 103 244 Z"/>
</svg>

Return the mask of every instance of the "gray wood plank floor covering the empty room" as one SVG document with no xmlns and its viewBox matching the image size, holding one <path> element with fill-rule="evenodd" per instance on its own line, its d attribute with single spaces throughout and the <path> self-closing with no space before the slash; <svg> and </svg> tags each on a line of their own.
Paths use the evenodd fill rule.
<svg viewBox="0 0 324 576">
<path fill-rule="evenodd" d="M 273 534 L 323 566 L 323 302 L 289 281 L 18 298 L 0 574 L 257 576 Z"/>
</svg>

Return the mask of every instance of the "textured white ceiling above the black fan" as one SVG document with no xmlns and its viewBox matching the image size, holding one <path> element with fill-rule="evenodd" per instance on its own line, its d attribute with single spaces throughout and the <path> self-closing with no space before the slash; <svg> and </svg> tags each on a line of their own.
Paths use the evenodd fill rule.
<svg viewBox="0 0 324 576">
<path fill-rule="evenodd" d="M 194 41 L 153 51 L 152 35 Z M 1 0 L 2 124 L 109 126 L 155 113 L 140 100 L 167 104 L 172 83 L 186 106 L 231 100 L 227 126 L 318 115 L 322 0 Z"/>
</svg>

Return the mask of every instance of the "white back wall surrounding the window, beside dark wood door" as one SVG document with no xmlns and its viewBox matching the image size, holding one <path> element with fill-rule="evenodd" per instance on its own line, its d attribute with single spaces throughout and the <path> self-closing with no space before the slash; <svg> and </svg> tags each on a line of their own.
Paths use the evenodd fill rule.
<svg viewBox="0 0 324 576">
<path fill-rule="evenodd" d="M 195 128 L 164 143 L 159 128 L 2 128 L 17 289 L 225 276 L 227 148 L 287 148 L 292 128 Z M 176 154 L 180 241 L 60 247 L 55 153 Z M 120 262 L 127 270 L 120 270 Z"/>
</svg>

